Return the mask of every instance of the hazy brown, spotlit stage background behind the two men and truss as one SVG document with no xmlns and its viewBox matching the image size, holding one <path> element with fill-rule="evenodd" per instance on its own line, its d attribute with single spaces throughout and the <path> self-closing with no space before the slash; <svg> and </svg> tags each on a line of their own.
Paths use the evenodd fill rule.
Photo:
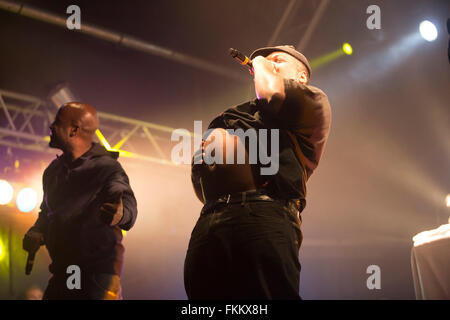
<svg viewBox="0 0 450 320">
<path fill-rule="evenodd" d="M 447 223 L 450 191 L 450 90 L 446 1 L 332 0 L 303 52 L 311 60 L 349 42 L 353 55 L 313 69 L 311 84 L 332 107 L 332 128 L 303 212 L 300 292 L 304 299 L 414 299 L 412 237 Z M 252 79 L 228 55 L 266 46 L 290 3 L 242 1 L 24 1 L 82 23 L 115 30 L 215 63 L 231 79 L 85 34 L 0 10 L 0 89 L 45 99 L 58 82 L 99 111 L 193 131 L 225 108 L 254 97 Z M 297 45 L 319 1 L 296 1 L 275 43 Z M 366 8 L 381 8 L 381 30 L 366 27 Z M 418 25 L 432 20 L 426 42 Z M 3 118 L 2 118 L 3 117 Z M 0 119 L 4 114 L 0 111 Z M 55 151 L 54 154 L 57 152 Z M 54 154 L 0 147 L 0 165 L 20 159 L 23 183 L 40 183 Z M 183 263 L 201 208 L 189 166 L 173 168 L 122 158 L 138 200 L 126 234 L 125 299 L 185 299 Z M 10 178 L 0 172 L 0 179 Z M 23 273 L 23 233 L 37 212 L 2 208 L 0 240 L 12 239 L 13 276 L 0 261 L 0 298 L 45 288 L 41 250 L 31 277 Z M 11 234 L 10 234 L 11 233 Z M 381 269 L 369 290 L 366 269 Z M 13 282 L 10 282 L 12 278 Z"/>
</svg>

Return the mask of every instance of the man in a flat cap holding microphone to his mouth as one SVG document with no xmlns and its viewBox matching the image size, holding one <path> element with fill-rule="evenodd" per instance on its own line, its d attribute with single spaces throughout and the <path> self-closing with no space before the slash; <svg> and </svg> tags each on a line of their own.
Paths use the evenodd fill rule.
<svg viewBox="0 0 450 320">
<path fill-rule="evenodd" d="M 330 104 L 308 85 L 311 68 L 294 47 L 261 48 L 250 59 L 257 99 L 221 113 L 209 129 L 235 148 L 242 141 L 226 129 L 278 129 L 279 141 L 270 143 L 279 143 L 279 169 L 261 175 L 260 163 L 193 163 L 192 182 L 205 205 L 186 254 L 189 299 L 300 299 L 300 213 L 329 135 Z M 205 137 L 199 152 L 214 145 L 226 158 L 235 151 L 226 142 Z"/>
</svg>

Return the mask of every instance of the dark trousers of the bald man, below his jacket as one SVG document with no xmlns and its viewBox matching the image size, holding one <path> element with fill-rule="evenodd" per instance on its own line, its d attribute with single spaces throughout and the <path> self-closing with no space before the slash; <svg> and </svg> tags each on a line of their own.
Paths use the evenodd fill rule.
<svg viewBox="0 0 450 320">
<path fill-rule="evenodd" d="M 68 289 L 65 273 L 53 274 L 43 300 L 122 300 L 120 277 L 107 273 L 82 273 L 80 289 Z"/>
</svg>

